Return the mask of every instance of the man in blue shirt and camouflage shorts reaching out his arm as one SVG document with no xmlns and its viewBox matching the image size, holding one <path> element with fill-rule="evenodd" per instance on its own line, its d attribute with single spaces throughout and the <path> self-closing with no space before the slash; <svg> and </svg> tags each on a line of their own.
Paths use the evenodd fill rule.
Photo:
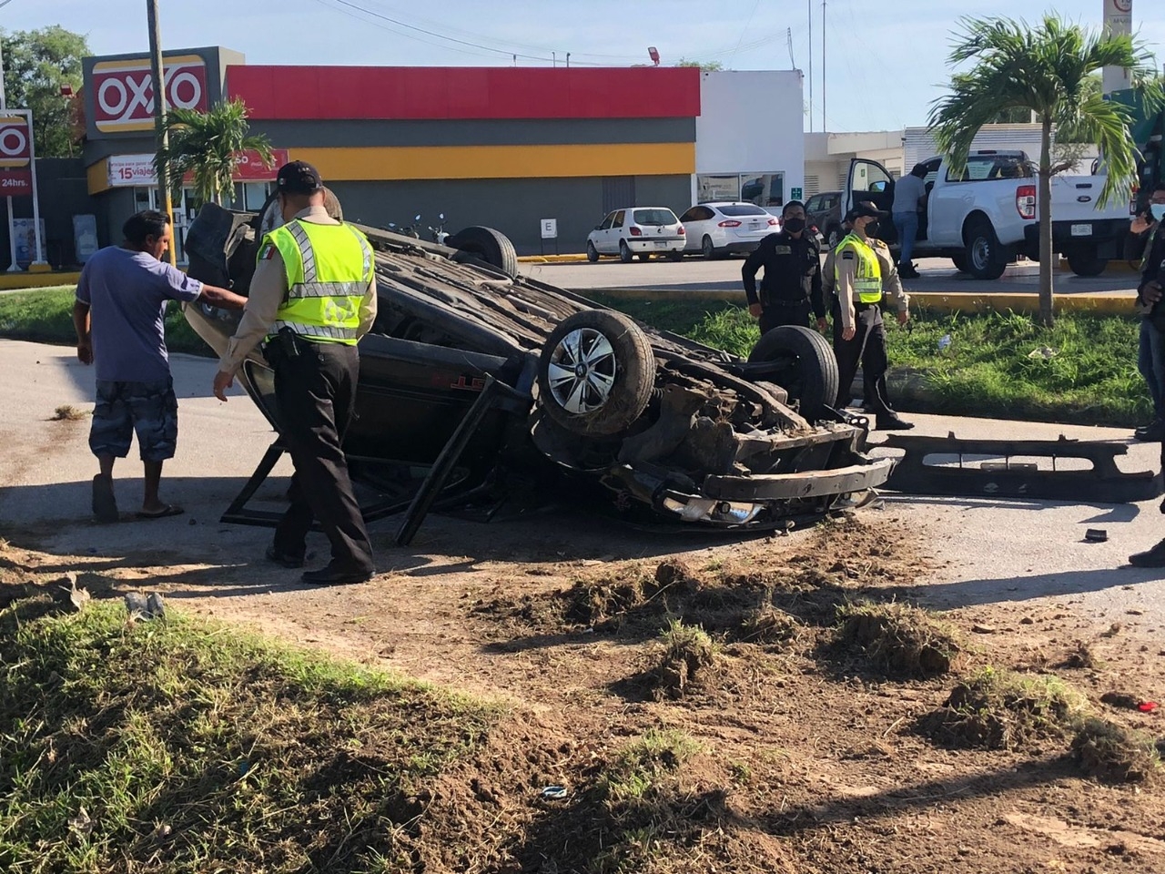
<svg viewBox="0 0 1165 874">
<path fill-rule="evenodd" d="M 162 463 L 174 458 L 178 438 L 178 401 L 163 325 L 167 301 L 202 299 L 235 310 L 247 302 L 161 260 L 171 239 L 165 213 L 147 210 L 130 216 L 122 233 L 121 246 L 108 246 L 85 263 L 73 304 L 77 358 L 97 365 L 89 445 L 100 468 L 93 477 L 93 514 L 100 522 L 119 519 L 113 463 L 129 454 L 134 431 L 146 470 L 139 519 L 182 513 L 158 498 Z"/>
</svg>

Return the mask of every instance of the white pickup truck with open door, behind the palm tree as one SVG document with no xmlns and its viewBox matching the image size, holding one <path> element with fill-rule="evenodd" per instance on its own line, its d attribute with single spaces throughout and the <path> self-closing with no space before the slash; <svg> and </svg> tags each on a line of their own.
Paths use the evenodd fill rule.
<svg viewBox="0 0 1165 874">
<path fill-rule="evenodd" d="M 920 216 L 917 258 L 949 258 L 960 270 L 981 280 L 998 279 L 1017 255 L 1039 258 L 1037 183 L 1023 151 L 981 149 L 967 156 L 960 176 L 941 157 L 926 165 L 926 211 Z M 843 210 L 873 200 L 890 210 L 894 184 L 876 161 L 855 158 L 842 192 Z M 1118 258 L 1129 232 L 1129 198 L 1114 197 L 1099 206 L 1103 176 L 1052 178 L 1052 251 L 1062 253 L 1080 276 L 1095 276 Z M 887 219 L 880 238 L 897 248 L 897 232 Z"/>
</svg>

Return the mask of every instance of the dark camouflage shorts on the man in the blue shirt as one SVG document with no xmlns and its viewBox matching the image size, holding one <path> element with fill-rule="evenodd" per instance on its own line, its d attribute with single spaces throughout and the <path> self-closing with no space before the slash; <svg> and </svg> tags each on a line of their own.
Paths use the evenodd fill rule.
<svg viewBox="0 0 1165 874">
<path fill-rule="evenodd" d="M 178 399 L 170 379 L 153 382 L 97 381 L 97 406 L 89 432 L 94 456 L 125 458 L 137 432 L 143 461 L 174 458 L 178 442 Z"/>
</svg>

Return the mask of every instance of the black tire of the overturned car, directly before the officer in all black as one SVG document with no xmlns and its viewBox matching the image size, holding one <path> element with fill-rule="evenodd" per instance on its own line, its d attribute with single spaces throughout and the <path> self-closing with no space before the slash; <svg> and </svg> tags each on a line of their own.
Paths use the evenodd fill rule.
<svg viewBox="0 0 1165 874">
<path fill-rule="evenodd" d="M 800 415 L 816 422 L 838 401 L 838 359 L 833 347 L 817 331 L 800 325 L 781 325 L 761 336 L 748 360 L 782 362 L 781 374 L 770 381 L 798 402 Z"/>
</svg>

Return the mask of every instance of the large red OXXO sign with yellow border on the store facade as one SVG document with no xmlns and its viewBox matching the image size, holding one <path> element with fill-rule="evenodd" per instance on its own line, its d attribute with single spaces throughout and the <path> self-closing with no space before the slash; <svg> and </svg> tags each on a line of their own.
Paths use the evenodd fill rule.
<svg viewBox="0 0 1165 874">
<path fill-rule="evenodd" d="M 162 62 L 170 107 L 205 112 L 206 62 L 198 55 Z M 149 58 L 101 61 L 93 65 L 93 124 L 106 134 L 149 131 L 154 126 L 154 76 Z"/>
</svg>

